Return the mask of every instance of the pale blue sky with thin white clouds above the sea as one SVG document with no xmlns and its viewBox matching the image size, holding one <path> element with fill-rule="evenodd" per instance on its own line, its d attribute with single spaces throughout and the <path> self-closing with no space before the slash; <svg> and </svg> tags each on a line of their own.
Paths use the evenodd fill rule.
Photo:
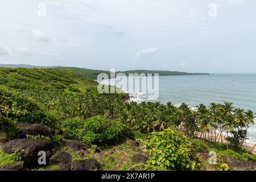
<svg viewBox="0 0 256 182">
<path fill-rule="evenodd" d="M 256 73 L 255 0 L 1 0 L 0 64 Z"/>
</svg>

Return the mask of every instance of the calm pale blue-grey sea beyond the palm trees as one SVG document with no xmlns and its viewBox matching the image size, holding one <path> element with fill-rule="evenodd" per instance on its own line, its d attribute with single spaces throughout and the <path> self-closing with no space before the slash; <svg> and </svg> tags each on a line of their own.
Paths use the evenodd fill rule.
<svg viewBox="0 0 256 182">
<path fill-rule="evenodd" d="M 108 81 L 105 81 L 108 84 Z M 127 90 L 125 90 L 127 91 Z M 134 101 L 148 101 L 146 93 L 133 93 Z M 256 74 L 214 74 L 199 76 L 160 76 L 159 98 L 165 104 L 185 102 L 192 108 L 203 103 L 232 102 L 256 113 Z M 249 129 L 249 140 L 256 142 L 256 126 Z"/>
</svg>

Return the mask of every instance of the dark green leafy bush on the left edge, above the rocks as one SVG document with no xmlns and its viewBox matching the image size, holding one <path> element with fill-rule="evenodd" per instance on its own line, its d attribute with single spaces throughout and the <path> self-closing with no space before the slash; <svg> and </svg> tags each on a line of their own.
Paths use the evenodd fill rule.
<svg viewBox="0 0 256 182">
<path fill-rule="evenodd" d="M 14 135 L 16 122 L 57 126 L 54 116 L 47 115 L 34 100 L 0 85 L 0 130 Z"/>
</svg>

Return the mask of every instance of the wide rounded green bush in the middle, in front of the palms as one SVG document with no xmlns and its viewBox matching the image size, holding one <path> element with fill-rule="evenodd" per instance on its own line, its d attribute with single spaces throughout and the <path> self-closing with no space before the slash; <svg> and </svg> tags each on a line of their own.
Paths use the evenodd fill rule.
<svg viewBox="0 0 256 182">
<path fill-rule="evenodd" d="M 101 117 L 67 119 L 61 123 L 64 135 L 87 144 L 114 144 L 132 138 L 131 129 L 122 123 Z"/>
</svg>

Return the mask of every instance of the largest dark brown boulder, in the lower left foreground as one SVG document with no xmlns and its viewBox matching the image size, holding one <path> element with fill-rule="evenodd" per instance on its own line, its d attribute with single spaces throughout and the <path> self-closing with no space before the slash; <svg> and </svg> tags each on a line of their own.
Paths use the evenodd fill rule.
<svg viewBox="0 0 256 182">
<path fill-rule="evenodd" d="M 16 151 L 22 155 L 22 160 L 29 166 L 38 166 L 39 151 L 46 152 L 46 162 L 49 162 L 49 158 L 52 155 L 51 143 L 43 140 L 34 139 L 14 139 L 5 143 L 2 147 L 2 151 L 7 154 L 12 154 Z"/>
</svg>

